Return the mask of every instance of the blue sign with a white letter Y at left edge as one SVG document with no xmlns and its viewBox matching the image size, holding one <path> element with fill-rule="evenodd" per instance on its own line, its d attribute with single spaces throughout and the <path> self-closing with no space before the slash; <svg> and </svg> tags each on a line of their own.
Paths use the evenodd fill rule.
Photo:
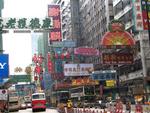
<svg viewBox="0 0 150 113">
<path fill-rule="evenodd" d="M 0 82 L 9 75 L 8 54 L 0 54 Z"/>
</svg>

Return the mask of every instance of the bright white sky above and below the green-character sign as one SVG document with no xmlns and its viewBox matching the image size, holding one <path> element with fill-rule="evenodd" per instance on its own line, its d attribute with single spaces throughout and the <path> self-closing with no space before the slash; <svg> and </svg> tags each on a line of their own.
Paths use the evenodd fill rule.
<svg viewBox="0 0 150 113">
<path fill-rule="evenodd" d="M 47 5 L 51 0 L 4 0 L 3 18 L 44 18 Z M 3 34 L 3 50 L 9 54 L 9 73 L 14 74 L 15 67 L 25 67 L 32 63 L 32 33 Z M 36 48 L 35 48 L 36 49 Z M 24 71 L 22 72 L 24 73 Z"/>
</svg>

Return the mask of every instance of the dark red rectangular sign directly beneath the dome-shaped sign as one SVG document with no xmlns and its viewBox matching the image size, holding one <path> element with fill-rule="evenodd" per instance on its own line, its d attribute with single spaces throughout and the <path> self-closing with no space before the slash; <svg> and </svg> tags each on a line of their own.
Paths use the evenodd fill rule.
<svg viewBox="0 0 150 113">
<path fill-rule="evenodd" d="M 132 64 L 133 54 L 131 53 L 103 53 L 103 64 Z"/>
</svg>

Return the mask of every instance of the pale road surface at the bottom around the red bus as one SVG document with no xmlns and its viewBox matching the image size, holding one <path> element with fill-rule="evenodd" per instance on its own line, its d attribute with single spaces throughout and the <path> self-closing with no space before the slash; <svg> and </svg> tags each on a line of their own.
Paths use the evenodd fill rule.
<svg viewBox="0 0 150 113">
<path fill-rule="evenodd" d="M 19 110 L 18 112 L 11 112 L 11 113 L 32 113 L 32 109 Z M 34 113 L 58 113 L 58 112 L 55 109 L 46 109 L 46 111 L 38 111 Z"/>
</svg>

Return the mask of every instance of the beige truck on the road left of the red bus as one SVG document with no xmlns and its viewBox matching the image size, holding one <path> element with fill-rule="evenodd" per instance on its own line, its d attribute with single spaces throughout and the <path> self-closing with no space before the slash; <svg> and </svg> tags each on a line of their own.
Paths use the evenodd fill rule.
<svg viewBox="0 0 150 113">
<path fill-rule="evenodd" d="M 9 111 L 18 111 L 20 109 L 20 98 L 18 92 L 9 90 Z"/>
</svg>

